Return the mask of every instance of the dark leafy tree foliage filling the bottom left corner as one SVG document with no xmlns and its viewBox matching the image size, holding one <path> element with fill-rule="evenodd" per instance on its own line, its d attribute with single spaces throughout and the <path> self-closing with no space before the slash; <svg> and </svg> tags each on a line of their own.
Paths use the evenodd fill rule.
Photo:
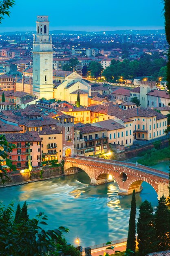
<svg viewBox="0 0 170 256">
<path fill-rule="evenodd" d="M 45 231 L 39 225 L 47 225 L 46 215 L 39 213 L 36 218 L 23 223 L 15 223 L 13 203 L 5 208 L 0 204 L 0 255 L 46 256 L 57 251 L 56 244 L 68 229 Z M 60 238 L 60 239 L 59 239 Z"/>
</svg>

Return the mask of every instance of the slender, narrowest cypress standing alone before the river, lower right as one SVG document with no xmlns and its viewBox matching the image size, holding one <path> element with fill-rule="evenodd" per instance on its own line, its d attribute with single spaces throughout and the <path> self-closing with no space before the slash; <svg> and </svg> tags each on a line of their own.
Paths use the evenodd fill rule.
<svg viewBox="0 0 170 256">
<path fill-rule="evenodd" d="M 135 253 L 136 249 L 136 197 L 135 189 L 132 193 L 131 209 L 130 209 L 130 219 L 129 219 L 129 229 L 128 229 L 128 240 L 126 244 L 126 251 L 131 249 Z M 131 255 L 134 255 L 131 253 Z"/>
</svg>

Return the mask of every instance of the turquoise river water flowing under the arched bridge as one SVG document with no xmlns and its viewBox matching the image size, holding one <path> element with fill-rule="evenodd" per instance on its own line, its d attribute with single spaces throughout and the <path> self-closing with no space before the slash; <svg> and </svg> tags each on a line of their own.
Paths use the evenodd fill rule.
<svg viewBox="0 0 170 256">
<path fill-rule="evenodd" d="M 168 161 L 155 168 L 168 170 Z M 162 169 L 161 169 L 162 170 Z M 32 182 L 0 189 L 0 202 L 16 206 L 26 200 L 30 217 L 40 211 L 48 216 L 48 229 L 64 226 L 69 243 L 80 238 L 82 246 L 97 245 L 108 240 L 126 238 L 130 215 L 131 195 L 119 196 L 115 182 L 91 186 L 86 173 Z M 157 206 L 157 193 L 143 182 L 143 190 L 136 194 L 137 209 L 144 200 Z M 138 211 L 138 210 L 137 210 Z"/>
</svg>

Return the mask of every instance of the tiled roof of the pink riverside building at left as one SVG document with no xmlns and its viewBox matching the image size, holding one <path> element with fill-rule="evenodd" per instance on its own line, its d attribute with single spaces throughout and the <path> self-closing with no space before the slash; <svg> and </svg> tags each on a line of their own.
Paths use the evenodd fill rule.
<svg viewBox="0 0 170 256">
<path fill-rule="evenodd" d="M 41 141 L 38 132 L 7 133 L 4 135 L 8 142 Z"/>
</svg>

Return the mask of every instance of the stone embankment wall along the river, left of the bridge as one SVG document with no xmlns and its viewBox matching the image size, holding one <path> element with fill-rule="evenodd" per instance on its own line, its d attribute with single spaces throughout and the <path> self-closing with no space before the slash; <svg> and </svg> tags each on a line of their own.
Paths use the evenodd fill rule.
<svg viewBox="0 0 170 256">
<path fill-rule="evenodd" d="M 50 166 L 43 166 L 39 168 L 33 168 L 32 171 L 26 172 L 23 170 L 21 172 L 15 172 L 15 173 L 8 173 L 9 181 L 5 182 L 4 185 L 2 185 L 2 182 L 0 181 L 0 186 L 9 186 L 14 184 L 22 184 L 27 183 L 35 180 L 43 180 L 50 177 L 56 177 L 58 175 L 62 175 L 62 166 L 57 167 L 50 167 Z"/>
</svg>

